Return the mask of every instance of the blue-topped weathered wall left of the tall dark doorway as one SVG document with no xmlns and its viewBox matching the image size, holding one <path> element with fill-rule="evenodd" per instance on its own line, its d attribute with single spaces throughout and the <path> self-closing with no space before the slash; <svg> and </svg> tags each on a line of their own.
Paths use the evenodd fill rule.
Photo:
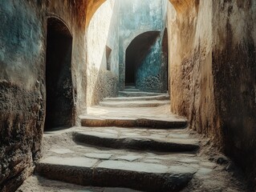
<svg viewBox="0 0 256 192">
<path fill-rule="evenodd" d="M 45 31 L 29 2 L 0 4 L 0 190 L 13 191 L 40 149 Z"/>
</svg>

